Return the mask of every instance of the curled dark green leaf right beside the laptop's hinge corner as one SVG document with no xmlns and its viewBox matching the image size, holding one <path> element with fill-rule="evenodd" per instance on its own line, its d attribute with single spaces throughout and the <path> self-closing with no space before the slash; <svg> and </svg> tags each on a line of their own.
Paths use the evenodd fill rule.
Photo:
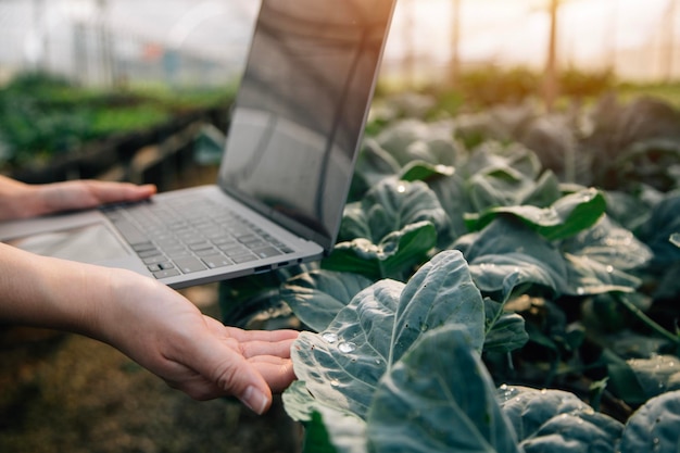
<svg viewBox="0 0 680 453">
<path fill-rule="evenodd" d="M 436 243 L 435 226 L 418 222 L 387 235 L 378 244 L 363 238 L 337 243 L 322 267 L 361 274 L 373 280 L 405 280 L 416 265 L 426 261 Z"/>
</svg>

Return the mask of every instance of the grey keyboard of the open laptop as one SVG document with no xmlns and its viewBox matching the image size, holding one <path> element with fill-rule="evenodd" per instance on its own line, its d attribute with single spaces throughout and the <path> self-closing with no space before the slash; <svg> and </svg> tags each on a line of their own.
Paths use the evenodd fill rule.
<svg viewBox="0 0 680 453">
<path fill-rule="evenodd" d="M 173 277 L 290 253 L 243 217 L 205 199 L 114 204 L 102 212 L 155 278 Z"/>
</svg>

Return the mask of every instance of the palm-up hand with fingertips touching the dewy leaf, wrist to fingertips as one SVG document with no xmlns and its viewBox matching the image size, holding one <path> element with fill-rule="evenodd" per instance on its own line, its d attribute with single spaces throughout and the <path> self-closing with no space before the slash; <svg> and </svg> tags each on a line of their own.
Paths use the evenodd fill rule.
<svg viewBox="0 0 680 453">
<path fill-rule="evenodd" d="M 121 278 L 123 277 L 123 278 Z M 293 330 L 247 331 L 204 316 L 154 280 L 116 273 L 103 306 L 104 340 L 198 400 L 235 395 L 255 413 L 294 379 Z"/>
</svg>

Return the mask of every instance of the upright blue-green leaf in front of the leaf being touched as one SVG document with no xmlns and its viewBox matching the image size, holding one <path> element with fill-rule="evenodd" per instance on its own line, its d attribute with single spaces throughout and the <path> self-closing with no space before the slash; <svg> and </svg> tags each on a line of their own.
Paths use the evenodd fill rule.
<svg viewBox="0 0 680 453">
<path fill-rule="evenodd" d="M 379 382 L 368 413 L 376 452 L 518 452 L 467 328 L 418 339 Z"/>
</svg>

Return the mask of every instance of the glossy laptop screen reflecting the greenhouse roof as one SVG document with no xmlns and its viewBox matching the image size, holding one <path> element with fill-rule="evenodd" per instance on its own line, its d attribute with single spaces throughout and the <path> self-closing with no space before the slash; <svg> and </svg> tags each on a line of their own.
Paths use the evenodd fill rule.
<svg viewBox="0 0 680 453">
<path fill-rule="evenodd" d="M 263 0 L 219 184 L 335 244 L 394 0 Z"/>
</svg>

